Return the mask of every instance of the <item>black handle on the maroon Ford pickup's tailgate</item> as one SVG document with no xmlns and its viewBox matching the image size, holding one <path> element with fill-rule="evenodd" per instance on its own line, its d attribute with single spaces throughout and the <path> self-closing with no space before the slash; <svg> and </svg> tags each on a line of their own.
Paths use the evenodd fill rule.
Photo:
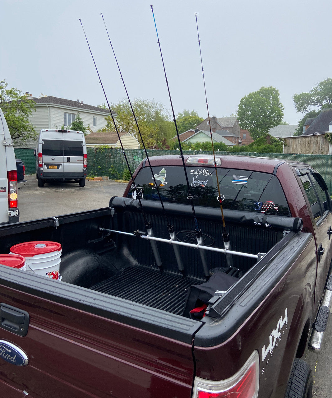
<svg viewBox="0 0 332 398">
<path fill-rule="evenodd" d="M 26 336 L 29 327 L 29 314 L 20 308 L 0 303 L 0 327 L 15 333 L 18 336 Z"/>
</svg>

